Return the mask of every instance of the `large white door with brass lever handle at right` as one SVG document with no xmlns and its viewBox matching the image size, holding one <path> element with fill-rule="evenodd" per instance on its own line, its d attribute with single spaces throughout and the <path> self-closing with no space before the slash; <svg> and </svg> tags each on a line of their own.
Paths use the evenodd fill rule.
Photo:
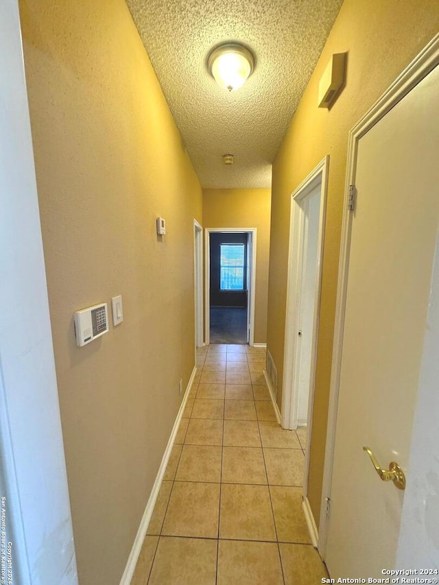
<svg viewBox="0 0 439 585">
<path fill-rule="evenodd" d="M 326 551 L 335 578 L 383 577 L 395 562 L 404 492 L 363 446 L 416 482 L 407 459 L 438 230 L 438 95 L 436 67 L 359 140 Z"/>
</svg>

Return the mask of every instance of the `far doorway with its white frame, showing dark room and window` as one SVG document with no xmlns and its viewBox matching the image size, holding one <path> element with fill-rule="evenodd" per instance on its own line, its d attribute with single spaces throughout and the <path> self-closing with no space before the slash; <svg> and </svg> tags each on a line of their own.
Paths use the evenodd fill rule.
<svg viewBox="0 0 439 585">
<path fill-rule="evenodd" d="M 206 229 L 206 344 L 253 344 L 256 229 Z"/>
</svg>

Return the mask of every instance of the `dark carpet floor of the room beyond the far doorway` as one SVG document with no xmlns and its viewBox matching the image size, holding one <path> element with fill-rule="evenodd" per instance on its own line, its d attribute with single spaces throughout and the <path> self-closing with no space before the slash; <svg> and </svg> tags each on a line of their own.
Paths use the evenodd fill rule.
<svg viewBox="0 0 439 585">
<path fill-rule="evenodd" d="M 247 309 L 211 307 L 211 344 L 246 344 Z"/>
</svg>

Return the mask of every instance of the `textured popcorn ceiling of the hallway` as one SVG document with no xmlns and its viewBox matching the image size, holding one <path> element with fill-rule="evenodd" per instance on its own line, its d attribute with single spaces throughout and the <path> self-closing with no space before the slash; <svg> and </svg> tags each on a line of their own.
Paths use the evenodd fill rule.
<svg viewBox="0 0 439 585">
<path fill-rule="evenodd" d="M 202 186 L 270 187 L 272 160 L 342 0 L 127 3 Z M 206 67 L 212 47 L 228 40 L 256 60 L 231 93 Z M 233 165 L 222 162 L 226 153 Z"/>
</svg>

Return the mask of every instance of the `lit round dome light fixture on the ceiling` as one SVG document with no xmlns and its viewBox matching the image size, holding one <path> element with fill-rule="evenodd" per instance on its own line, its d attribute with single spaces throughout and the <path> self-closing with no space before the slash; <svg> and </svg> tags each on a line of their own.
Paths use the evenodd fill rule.
<svg viewBox="0 0 439 585">
<path fill-rule="evenodd" d="M 244 85 L 254 69 L 254 56 L 239 43 L 224 43 L 211 51 L 207 67 L 217 84 L 233 91 Z"/>
</svg>

